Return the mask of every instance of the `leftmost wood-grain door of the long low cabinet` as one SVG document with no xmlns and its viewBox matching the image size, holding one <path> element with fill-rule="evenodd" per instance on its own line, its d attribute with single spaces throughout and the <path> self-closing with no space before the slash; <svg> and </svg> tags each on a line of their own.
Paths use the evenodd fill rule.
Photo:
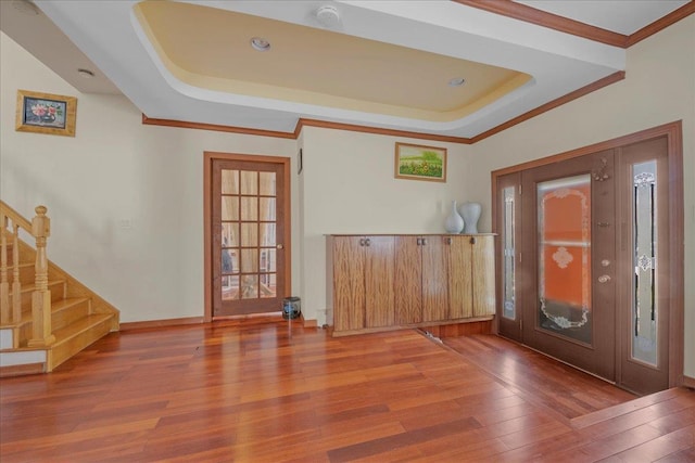
<svg viewBox="0 0 695 463">
<path fill-rule="evenodd" d="M 333 239 L 333 326 L 365 327 L 365 247 L 361 236 Z"/>
</svg>

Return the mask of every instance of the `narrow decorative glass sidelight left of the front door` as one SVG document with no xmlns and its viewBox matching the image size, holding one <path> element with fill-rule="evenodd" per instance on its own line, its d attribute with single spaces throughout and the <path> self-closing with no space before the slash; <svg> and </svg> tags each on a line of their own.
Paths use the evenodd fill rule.
<svg viewBox="0 0 695 463">
<path fill-rule="evenodd" d="M 516 254 L 515 254 L 515 243 L 514 243 L 514 232 L 515 232 L 515 216 L 514 216 L 514 206 L 515 206 L 515 187 L 507 187 L 502 191 L 502 201 L 503 201 L 503 210 L 504 215 L 502 217 L 502 243 L 504 246 L 503 249 L 503 268 L 502 268 L 502 288 L 503 288 L 503 299 L 502 299 L 502 317 L 506 319 L 516 320 L 517 318 L 517 307 L 516 307 L 516 290 L 514 286 L 515 279 L 515 263 L 516 263 Z"/>
</svg>

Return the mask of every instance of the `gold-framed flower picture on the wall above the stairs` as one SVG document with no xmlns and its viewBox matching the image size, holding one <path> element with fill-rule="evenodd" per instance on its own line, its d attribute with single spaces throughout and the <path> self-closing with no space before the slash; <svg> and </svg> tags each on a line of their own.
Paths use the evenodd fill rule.
<svg viewBox="0 0 695 463">
<path fill-rule="evenodd" d="M 74 97 L 17 90 L 17 131 L 75 137 L 76 115 Z"/>
</svg>

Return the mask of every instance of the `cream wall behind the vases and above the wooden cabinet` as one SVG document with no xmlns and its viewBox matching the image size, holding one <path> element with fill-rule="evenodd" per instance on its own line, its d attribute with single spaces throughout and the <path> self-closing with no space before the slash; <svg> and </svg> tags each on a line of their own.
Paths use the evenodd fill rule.
<svg viewBox="0 0 695 463">
<path fill-rule="evenodd" d="M 447 181 L 394 178 L 395 142 L 447 149 Z M 470 146 L 356 133 L 303 130 L 304 286 L 302 307 L 325 322 L 326 234 L 444 233 L 452 201 L 482 201 L 469 194 Z"/>
</svg>

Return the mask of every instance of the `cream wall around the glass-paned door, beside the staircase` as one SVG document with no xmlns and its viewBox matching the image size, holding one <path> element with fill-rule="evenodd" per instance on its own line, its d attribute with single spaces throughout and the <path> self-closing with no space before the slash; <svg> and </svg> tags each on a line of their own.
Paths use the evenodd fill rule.
<svg viewBox="0 0 695 463">
<path fill-rule="evenodd" d="M 294 179 L 296 142 L 143 126 L 124 97 L 79 93 L 4 34 L 0 60 L 2 200 L 28 218 L 48 207 L 49 258 L 117 307 L 122 321 L 202 316 L 203 152 L 292 157 Z M 76 137 L 16 132 L 17 89 L 77 97 Z M 294 229 L 298 197 L 293 182 Z M 294 235 L 292 247 L 299 243 Z"/>
</svg>

